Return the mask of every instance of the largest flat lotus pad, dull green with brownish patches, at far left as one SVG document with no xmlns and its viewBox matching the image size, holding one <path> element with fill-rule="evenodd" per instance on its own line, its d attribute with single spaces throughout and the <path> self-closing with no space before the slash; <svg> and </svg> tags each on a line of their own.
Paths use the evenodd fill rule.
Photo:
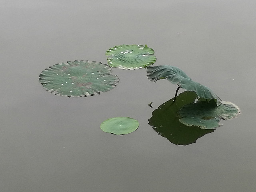
<svg viewBox="0 0 256 192">
<path fill-rule="evenodd" d="M 56 95 L 86 97 L 113 89 L 119 78 L 106 64 L 75 60 L 46 68 L 39 75 L 39 82 Z"/>
</svg>

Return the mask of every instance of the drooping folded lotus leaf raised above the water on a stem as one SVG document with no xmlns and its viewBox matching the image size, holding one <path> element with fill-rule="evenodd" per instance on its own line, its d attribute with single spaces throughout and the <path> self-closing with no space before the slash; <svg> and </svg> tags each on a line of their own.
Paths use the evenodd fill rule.
<svg viewBox="0 0 256 192">
<path fill-rule="evenodd" d="M 221 99 L 208 87 L 191 80 L 180 68 L 162 65 L 162 66 L 149 66 L 147 68 L 148 79 L 156 82 L 159 79 L 167 78 L 173 84 L 189 91 L 194 91 L 200 98 L 214 99 L 217 105 L 221 104 Z"/>
</svg>

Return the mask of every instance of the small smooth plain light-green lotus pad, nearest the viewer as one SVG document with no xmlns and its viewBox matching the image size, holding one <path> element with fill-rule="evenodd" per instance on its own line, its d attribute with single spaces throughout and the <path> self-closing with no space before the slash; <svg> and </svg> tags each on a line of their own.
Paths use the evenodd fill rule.
<svg viewBox="0 0 256 192">
<path fill-rule="evenodd" d="M 139 125 L 137 120 L 130 117 L 114 117 L 102 122 L 100 128 L 106 133 L 124 135 L 134 132 Z"/>
</svg>

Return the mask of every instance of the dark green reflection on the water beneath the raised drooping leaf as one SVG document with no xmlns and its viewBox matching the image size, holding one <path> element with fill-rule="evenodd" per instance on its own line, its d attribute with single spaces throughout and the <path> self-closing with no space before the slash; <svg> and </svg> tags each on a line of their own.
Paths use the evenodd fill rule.
<svg viewBox="0 0 256 192">
<path fill-rule="evenodd" d="M 194 102 L 196 98 L 195 92 L 182 92 L 177 96 L 176 102 L 173 102 L 174 98 L 172 98 L 154 110 L 148 124 L 153 126 L 159 135 L 167 138 L 173 144 L 189 145 L 195 143 L 198 138 L 214 132 L 214 129 L 206 130 L 180 123 L 177 111 L 185 104 Z"/>
</svg>

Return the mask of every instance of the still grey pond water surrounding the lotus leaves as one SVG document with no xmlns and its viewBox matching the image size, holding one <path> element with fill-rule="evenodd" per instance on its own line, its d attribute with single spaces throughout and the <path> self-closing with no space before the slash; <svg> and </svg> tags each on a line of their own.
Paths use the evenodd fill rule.
<svg viewBox="0 0 256 192">
<path fill-rule="evenodd" d="M 1 191 L 255 191 L 255 8 L 254 0 L 2 0 Z M 86 98 L 38 82 L 56 63 L 106 63 L 106 50 L 121 44 L 147 44 L 154 65 L 181 68 L 242 114 L 176 145 L 148 124 L 176 86 L 150 82 L 145 69 L 114 68 L 118 86 Z M 103 132 L 116 116 L 135 118 L 138 130 Z"/>
</svg>

